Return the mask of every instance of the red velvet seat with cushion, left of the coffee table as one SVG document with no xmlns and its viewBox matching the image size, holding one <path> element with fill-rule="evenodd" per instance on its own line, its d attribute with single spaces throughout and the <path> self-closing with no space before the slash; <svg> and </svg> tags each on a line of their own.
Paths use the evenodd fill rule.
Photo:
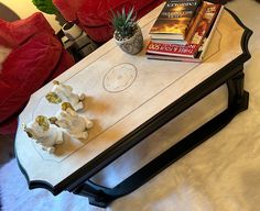
<svg viewBox="0 0 260 211">
<path fill-rule="evenodd" d="M 14 133 L 30 96 L 69 68 L 74 60 L 42 13 L 7 23 L 0 20 L 0 44 L 13 47 L 0 71 L 0 133 Z"/>
</svg>

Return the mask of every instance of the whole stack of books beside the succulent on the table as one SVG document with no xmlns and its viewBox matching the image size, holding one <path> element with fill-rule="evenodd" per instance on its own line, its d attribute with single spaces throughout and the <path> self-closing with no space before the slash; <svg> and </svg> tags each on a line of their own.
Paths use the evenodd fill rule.
<svg viewBox="0 0 260 211">
<path fill-rule="evenodd" d="M 147 57 L 202 62 L 223 5 L 202 0 L 167 0 L 150 30 Z"/>
</svg>

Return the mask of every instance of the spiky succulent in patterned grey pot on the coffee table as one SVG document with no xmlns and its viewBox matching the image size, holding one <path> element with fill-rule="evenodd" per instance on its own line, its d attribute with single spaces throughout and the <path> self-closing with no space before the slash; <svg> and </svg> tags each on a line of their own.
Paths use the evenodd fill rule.
<svg viewBox="0 0 260 211">
<path fill-rule="evenodd" d="M 133 8 L 126 12 L 113 12 L 111 23 L 115 29 L 113 38 L 120 48 L 128 54 L 138 54 L 143 48 L 143 36 L 137 23 Z"/>
</svg>

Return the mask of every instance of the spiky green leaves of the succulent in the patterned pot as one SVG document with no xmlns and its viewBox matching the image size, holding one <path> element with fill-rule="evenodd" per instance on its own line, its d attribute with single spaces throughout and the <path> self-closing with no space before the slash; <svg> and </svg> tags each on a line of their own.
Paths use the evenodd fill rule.
<svg viewBox="0 0 260 211">
<path fill-rule="evenodd" d="M 121 12 L 111 11 L 111 23 L 115 29 L 116 38 L 119 41 L 130 38 L 138 29 L 134 8 L 131 8 L 128 12 L 126 12 L 124 8 L 122 8 Z"/>
</svg>

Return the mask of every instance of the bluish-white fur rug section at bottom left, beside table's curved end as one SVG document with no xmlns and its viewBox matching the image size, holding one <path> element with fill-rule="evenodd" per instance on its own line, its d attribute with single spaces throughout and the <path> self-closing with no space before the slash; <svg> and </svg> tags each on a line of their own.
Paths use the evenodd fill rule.
<svg viewBox="0 0 260 211">
<path fill-rule="evenodd" d="M 44 189 L 29 190 L 15 159 L 1 168 L 0 181 L 2 210 L 77 211 L 86 210 L 86 208 L 91 210 L 87 198 L 77 197 L 69 192 L 53 197 L 50 191 Z M 93 210 L 96 210 L 96 208 Z"/>
</svg>

